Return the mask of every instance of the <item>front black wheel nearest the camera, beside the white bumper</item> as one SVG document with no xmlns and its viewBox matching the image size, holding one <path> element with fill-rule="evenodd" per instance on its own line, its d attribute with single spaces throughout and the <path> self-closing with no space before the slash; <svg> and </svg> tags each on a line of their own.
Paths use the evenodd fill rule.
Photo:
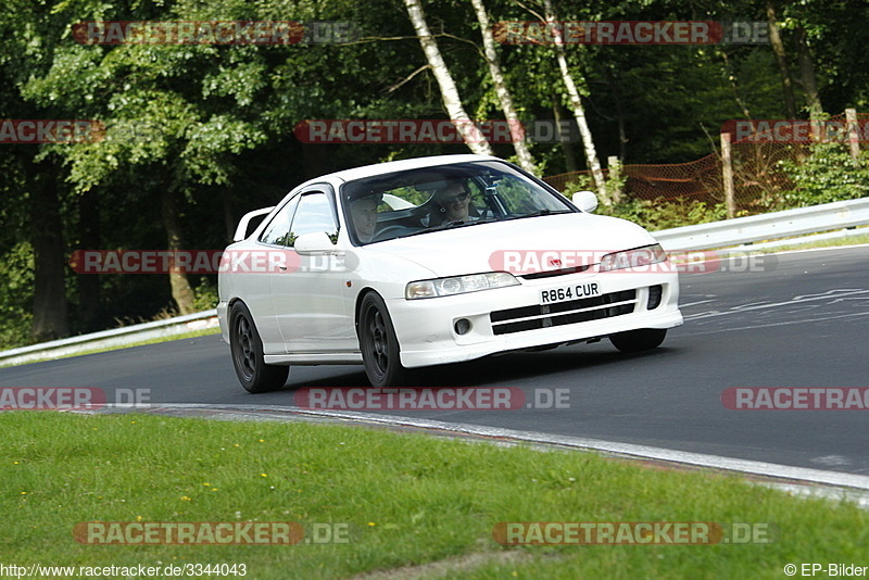
<svg viewBox="0 0 869 580">
<path fill-rule="evenodd" d="M 406 377 L 401 365 L 399 339 L 383 299 L 365 294 L 360 304 L 358 338 L 365 374 L 371 387 L 392 387 Z"/>
</svg>

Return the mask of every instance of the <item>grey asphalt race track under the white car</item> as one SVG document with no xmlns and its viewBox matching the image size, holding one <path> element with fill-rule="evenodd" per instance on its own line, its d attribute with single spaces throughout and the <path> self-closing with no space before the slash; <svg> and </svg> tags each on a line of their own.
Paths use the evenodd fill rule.
<svg viewBox="0 0 869 580">
<path fill-rule="evenodd" d="M 869 409 L 721 401 L 736 387 L 869 388 L 869 247 L 726 265 L 682 275 L 685 324 L 655 351 L 602 341 L 428 368 L 412 383 L 519 388 L 528 400 L 566 389 L 569 408 L 383 413 L 869 475 Z M 154 404 L 291 406 L 293 389 L 366 384 L 362 367 L 294 367 L 285 390 L 248 394 L 216 336 L 0 369 L 0 387 L 97 387 L 110 401 L 150 389 Z"/>
</svg>

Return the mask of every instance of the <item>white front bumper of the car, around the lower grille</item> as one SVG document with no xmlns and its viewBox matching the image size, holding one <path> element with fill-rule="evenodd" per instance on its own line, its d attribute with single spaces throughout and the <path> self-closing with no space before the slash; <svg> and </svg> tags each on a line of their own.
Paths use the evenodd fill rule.
<svg viewBox="0 0 869 580">
<path fill-rule="evenodd" d="M 596 294 L 541 304 L 541 292 L 596 285 Z M 650 307 L 650 288 L 660 299 Z M 653 291 L 657 293 L 657 290 Z M 580 273 L 496 290 L 424 300 L 387 301 L 407 368 L 682 324 L 676 273 Z M 493 314 L 494 313 L 494 314 Z M 458 332 L 456 323 L 467 331 Z"/>
</svg>

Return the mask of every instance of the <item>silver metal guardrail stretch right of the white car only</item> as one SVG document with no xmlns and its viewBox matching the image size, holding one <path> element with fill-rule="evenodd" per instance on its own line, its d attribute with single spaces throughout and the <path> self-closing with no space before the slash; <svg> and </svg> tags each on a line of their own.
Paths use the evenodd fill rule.
<svg viewBox="0 0 869 580">
<path fill-rule="evenodd" d="M 709 250 L 869 224 L 869 198 L 653 231 L 668 252 Z"/>
</svg>

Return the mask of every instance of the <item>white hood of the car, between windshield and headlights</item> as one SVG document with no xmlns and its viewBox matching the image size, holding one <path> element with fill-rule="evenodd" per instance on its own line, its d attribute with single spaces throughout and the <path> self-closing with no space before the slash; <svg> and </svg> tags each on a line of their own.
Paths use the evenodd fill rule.
<svg viewBox="0 0 869 580">
<path fill-rule="evenodd" d="M 642 227 L 588 213 L 545 215 L 431 231 L 368 244 L 366 251 L 402 257 L 438 277 L 507 269 L 505 252 L 600 256 L 655 243 Z M 552 255 L 552 254 L 550 254 Z"/>
</svg>

